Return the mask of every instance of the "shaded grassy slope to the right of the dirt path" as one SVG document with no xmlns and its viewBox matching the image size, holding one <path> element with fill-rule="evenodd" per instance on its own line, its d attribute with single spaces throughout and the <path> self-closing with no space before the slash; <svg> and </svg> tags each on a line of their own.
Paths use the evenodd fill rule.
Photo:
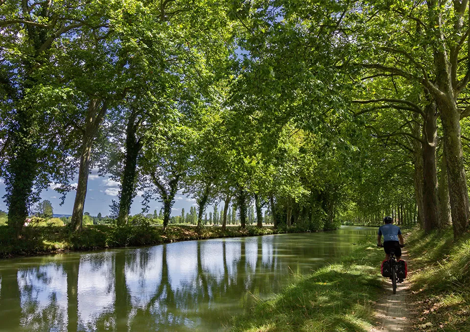
<svg viewBox="0 0 470 332">
<path fill-rule="evenodd" d="M 427 236 L 418 230 L 408 244 L 417 329 L 430 322 L 426 331 L 470 331 L 470 234 L 455 242 L 452 229 Z"/>
</svg>

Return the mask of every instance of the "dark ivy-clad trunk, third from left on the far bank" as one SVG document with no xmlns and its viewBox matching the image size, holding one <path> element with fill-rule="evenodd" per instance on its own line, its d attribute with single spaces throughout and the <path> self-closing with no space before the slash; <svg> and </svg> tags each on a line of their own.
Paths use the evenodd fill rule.
<svg viewBox="0 0 470 332">
<path fill-rule="evenodd" d="M 121 190 L 119 192 L 119 214 L 118 224 L 127 224 L 127 219 L 131 210 L 132 200 L 136 196 L 137 159 L 142 148 L 142 144 L 136 137 L 137 112 L 132 111 L 126 128 L 126 155 L 124 161 L 124 171 L 121 177 Z"/>
</svg>

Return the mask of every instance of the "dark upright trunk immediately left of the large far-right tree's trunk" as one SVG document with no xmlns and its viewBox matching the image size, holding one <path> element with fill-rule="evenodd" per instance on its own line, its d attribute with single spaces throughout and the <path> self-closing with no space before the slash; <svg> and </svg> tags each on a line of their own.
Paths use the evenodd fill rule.
<svg viewBox="0 0 470 332">
<path fill-rule="evenodd" d="M 437 114 L 436 104 L 430 103 L 425 107 L 423 123 L 423 229 L 429 233 L 439 226 L 439 201 L 437 185 L 436 147 Z"/>
</svg>

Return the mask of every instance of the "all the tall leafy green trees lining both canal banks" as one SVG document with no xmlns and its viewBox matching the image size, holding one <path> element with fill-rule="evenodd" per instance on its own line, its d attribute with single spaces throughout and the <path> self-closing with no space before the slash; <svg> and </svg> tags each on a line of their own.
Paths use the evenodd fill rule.
<svg viewBox="0 0 470 332">
<path fill-rule="evenodd" d="M 416 205 L 426 231 L 451 222 L 457 237 L 468 16 L 466 0 L 3 2 L 8 223 L 19 233 L 78 170 L 79 231 L 96 165 L 120 184 L 118 224 L 142 191 L 166 228 L 183 189 L 199 227 L 219 202 L 223 227 L 232 204 L 242 227 L 264 208 L 315 230 Z"/>
</svg>

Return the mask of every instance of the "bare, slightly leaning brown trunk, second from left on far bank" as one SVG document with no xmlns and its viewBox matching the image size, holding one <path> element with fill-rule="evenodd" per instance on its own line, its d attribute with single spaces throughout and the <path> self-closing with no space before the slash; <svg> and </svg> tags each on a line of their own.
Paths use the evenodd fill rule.
<svg viewBox="0 0 470 332">
<path fill-rule="evenodd" d="M 99 107 L 101 100 L 92 98 L 88 106 L 86 128 L 82 137 L 80 167 L 78 169 L 78 185 L 75 195 L 75 203 L 71 217 L 71 226 L 74 231 L 82 228 L 83 209 L 85 207 L 85 197 L 87 195 L 88 175 L 90 173 L 90 158 L 92 155 L 93 141 L 98 131 L 99 125 L 106 114 L 108 104 L 104 101 Z"/>
</svg>

